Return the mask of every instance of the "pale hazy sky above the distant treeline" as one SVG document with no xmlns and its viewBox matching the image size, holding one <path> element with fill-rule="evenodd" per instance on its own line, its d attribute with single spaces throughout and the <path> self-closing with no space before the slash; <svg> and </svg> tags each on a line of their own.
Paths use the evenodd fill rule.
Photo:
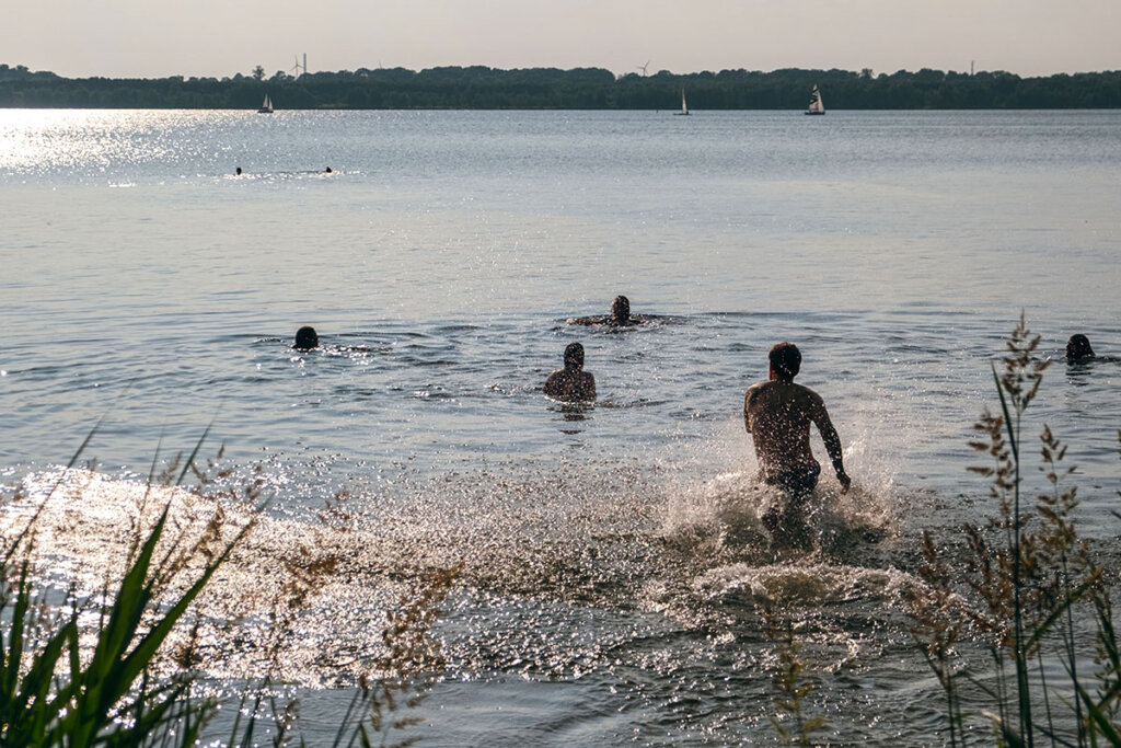
<svg viewBox="0 0 1121 748">
<path fill-rule="evenodd" d="M 67 77 L 488 65 L 650 74 L 1121 70 L 1121 0 L 12 0 L 0 63 Z"/>
</svg>

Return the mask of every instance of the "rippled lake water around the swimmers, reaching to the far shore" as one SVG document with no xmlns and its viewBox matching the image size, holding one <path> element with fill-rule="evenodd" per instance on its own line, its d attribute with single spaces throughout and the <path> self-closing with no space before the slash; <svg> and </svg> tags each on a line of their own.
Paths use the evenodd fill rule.
<svg viewBox="0 0 1121 748">
<path fill-rule="evenodd" d="M 285 673 L 324 731 L 398 588 L 462 561 L 426 744 L 770 741 L 763 598 L 799 620 L 835 742 L 941 742 L 900 589 L 924 528 L 989 510 L 965 442 L 1021 310 L 1045 355 L 1073 332 L 1102 355 L 1051 366 L 1030 430 L 1071 444 L 1112 557 L 1119 112 L 9 110 L 0 132 L 0 470 L 65 463 L 103 418 L 82 501 L 113 516 L 160 438 L 213 421 L 272 495 L 234 590 L 281 548 L 349 548 Z M 565 324 L 620 293 L 656 323 Z M 289 349 L 304 324 L 322 350 Z M 793 557 L 758 529 L 741 415 L 781 340 L 855 482 L 823 478 Z M 580 413 L 539 391 L 572 341 L 600 393 Z M 325 539 L 340 489 L 359 519 Z"/>
</svg>

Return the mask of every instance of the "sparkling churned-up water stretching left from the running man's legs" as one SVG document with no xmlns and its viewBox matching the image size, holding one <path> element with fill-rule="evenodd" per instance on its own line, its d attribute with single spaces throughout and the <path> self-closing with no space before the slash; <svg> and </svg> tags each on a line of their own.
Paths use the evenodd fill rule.
<svg viewBox="0 0 1121 748">
<path fill-rule="evenodd" d="M 889 514 L 873 497 L 823 496 L 813 517 L 818 546 L 784 554 L 758 521 L 775 497 L 744 474 L 685 493 L 669 483 L 660 470 L 608 460 L 502 465 L 358 493 L 321 521 L 266 514 L 200 601 L 211 629 L 203 669 L 216 678 L 353 683 L 381 656 L 389 611 L 427 575 L 456 567 L 444 634 L 464 675 L 516 663 L 554 676 L 576 662 L 594 667 L 595 657 L 568 630 L 574 616 L 601 620 L 600 644 L 624 646 L 636 621 L 651 613 L 668 620 L 640 628 L 707 627 L 713 604 L 740 589 L 796 598 L 809 576 L 824 585 L 827 603 L 876 584 L 880 572 L 842 561 L 890 533 Z M 36 535 L 44 579 L 90 594 L 122 571 L 136 528 L 165 504 L 184 536 L 216 512 L 231 527 L 250 517 L 247 507 L 87 471 L 36 474 L 24 487 L 26 498 L 6 507 L 4 535 L 44 507 Z M 315 578 L 304 609 L 278 609 L 300 575 Z M 638 618 L 618 630 L 604 627 L 618 626 L 619 616 Z"/>
</svg>

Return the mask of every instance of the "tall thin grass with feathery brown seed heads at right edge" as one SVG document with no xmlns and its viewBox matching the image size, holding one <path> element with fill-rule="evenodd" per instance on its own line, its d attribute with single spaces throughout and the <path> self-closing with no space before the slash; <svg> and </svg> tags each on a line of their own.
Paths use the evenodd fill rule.
<svg viewBox="0 0 1121 748">
<path fill-rule="evenodd" d="M 981 437 L 970 443 L 990 460 L 970 470 L 989 479 L 995 515 L 963 526 L 964 563 L 924 533 L 923 583 L 908 593 L 912 634 L 946 698 L 952 746 L 964 744 L 966 689 L 990 704 L 983 714 L 1001 745 L 1121 746 L 1110 590 L 1075 527 L 1066 445 L 1046 425 L 1038 442 L 1045 489 L 1025 506 L 1022 430 L 1049 363 L 1037 357 L 1038 345 L 1021 315 L 1002 370 L 993 367 L 1000 412 L 983 412 Z M 1082 632 L 1087 624 L 1092 637 Z M 988 650 L 988 672 L 962 654 L 966 641 Z M 1084 672 L 1081 664 L 1091 661 L 1097 668 Z M 1048 680 L 1048 663 L 1062 664 L 1065 681 Z"/>
</svg>

